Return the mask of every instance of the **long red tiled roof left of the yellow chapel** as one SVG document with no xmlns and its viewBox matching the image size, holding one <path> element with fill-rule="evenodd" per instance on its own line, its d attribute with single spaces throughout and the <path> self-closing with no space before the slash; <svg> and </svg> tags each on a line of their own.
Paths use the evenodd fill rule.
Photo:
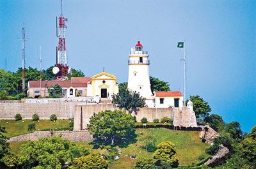
<svg viewBox="0 0 256 169">
<path fill-rule="evenodd" d="M 56 84 L 61 87 L 87 87 L 87 83 L 92 80 L 90 77 L 72 77 L 71 80 L 42 80 L 41 87 L 52 87 Z M 40 87 L 39 80 L 29 81 L 29 87 Z"/>
</svg>

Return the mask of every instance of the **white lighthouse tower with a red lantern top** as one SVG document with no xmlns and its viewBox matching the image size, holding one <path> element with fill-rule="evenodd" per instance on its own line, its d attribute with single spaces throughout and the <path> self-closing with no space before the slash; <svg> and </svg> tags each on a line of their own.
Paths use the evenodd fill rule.
<svg viewBox="0 0 256 169">
<path fill-rule="evenodd" d="M 154 107 L 154 95 L 150 89 L 148 52 L 143 52 L 140 41 L 129 54 L 128 89 L 140 93 L 148 107 Z"/>
</svg>

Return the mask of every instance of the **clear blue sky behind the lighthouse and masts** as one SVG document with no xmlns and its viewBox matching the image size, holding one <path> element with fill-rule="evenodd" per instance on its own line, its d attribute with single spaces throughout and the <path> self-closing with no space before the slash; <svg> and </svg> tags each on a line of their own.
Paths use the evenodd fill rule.
<svg viewBox="0 0 256 169">
<path fill-rule="evenodd" d="M 22 22 L 26 21 L 26 65 L 43 68 L 55 59 L 60 0 L 0 0 L 0 68 L 21 66 Z M 199 94 L 225 121 L 244 131 L 256 125 L 256 1 L 63 0 L 68 17 L 69 66 L 86 76 L 102 71 L 127 82 L 128 55 L 136 41 L 150 54 L 150 75 L 182 90 L 186 40 L 188 95 Z"/>
</svg>

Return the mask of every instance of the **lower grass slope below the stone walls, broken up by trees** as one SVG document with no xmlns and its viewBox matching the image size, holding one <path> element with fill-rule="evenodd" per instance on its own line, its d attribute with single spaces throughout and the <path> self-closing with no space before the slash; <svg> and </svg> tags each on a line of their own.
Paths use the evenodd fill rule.
<svg viewBox="0 0 256 169">
<path fill-rule="evenodd" d="M 119 168 L 132 168 L 135 165 L 136 159 L 131 159 L 131 154 L 136 154 L 138 157 L 152 158 L 153 152 L 146 152 L 141 148 L 143 145 L 140 141 L 145 135 L 154 136 L 156 139 L 156 145 L 160 142 L 171 141 L 175 143 L 177 147 L 177 155 L 180 165 L 191 165 L 199 161 L 198 156 L 205 154 L 205 148 L 209 147 L 209 144 L 202 143 L 198 131 L 175 131 L 166 128 L 150 128 L 150 129 L 136 129 L 137 142 L 122 148 L 122 154 L 120 159 L 113 161 L 109 164 L 111 169 Z M 24 142 L 23 142 L 24 143 Z M 76 142 L 77 145 L 84 145 L 92 150 L 92 152 L 105 152 L 102 149 L 93 149 L 93 145 L 90 142 Z M 22 142 L 11 142 L 11 151 L 15 154 L 19 154 L 19 147 Z"/>
</svg>

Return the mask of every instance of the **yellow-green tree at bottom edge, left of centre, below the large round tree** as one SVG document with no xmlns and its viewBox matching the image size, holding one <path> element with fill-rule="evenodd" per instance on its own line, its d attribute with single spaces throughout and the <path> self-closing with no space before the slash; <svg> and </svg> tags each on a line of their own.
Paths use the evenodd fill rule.
<svg viewBox="0 0 256 169">
<path fill-rule="evenodd" d="M 104 169 L 108 168 L 108 162 L 100 157 L 99 154 L 93 153 L 88 156 L 75 158 L 68 169 Z"/>
</svg>

